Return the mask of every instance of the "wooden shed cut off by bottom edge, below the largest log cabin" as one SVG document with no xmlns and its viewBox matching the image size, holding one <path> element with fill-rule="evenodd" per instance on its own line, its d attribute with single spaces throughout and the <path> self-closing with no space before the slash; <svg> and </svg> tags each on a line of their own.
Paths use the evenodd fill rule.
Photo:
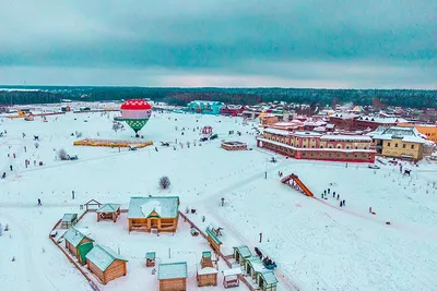
<svg viewBox="0 0 437 291">
<path fill-rule="evenodd" d="M 160 291 L 187 290 L 187 262 L 160 264 L 157 279 Z"/>
</svg>

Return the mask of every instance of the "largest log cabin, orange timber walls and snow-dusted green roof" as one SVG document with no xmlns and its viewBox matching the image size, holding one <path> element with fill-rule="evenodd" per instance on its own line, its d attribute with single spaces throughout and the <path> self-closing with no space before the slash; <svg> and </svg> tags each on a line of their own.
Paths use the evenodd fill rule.
<svg viewBox="0 0 437 291">
<path fill-rule="evenodd" d="M 129 231 L 176 232 L 179 217 L 178 196 L 131 197 Z"/>
</svg>

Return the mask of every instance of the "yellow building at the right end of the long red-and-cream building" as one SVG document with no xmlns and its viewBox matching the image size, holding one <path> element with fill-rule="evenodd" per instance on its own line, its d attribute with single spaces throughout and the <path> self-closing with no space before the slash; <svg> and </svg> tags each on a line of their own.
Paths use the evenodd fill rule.
<svg viewBox="0 0 437 291">
<path fill-rule="evenodd" d="M 415 128 L 391 126 L 378 128 L 369 133 L 377 153 L 385 157 L 421 160 L 424 154 L 425 140 Z"/>
</svg>

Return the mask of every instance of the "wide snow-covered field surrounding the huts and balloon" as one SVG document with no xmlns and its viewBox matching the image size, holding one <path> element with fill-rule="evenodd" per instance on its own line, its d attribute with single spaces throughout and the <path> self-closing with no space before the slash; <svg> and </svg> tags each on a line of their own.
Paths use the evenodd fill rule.
<svg viewBox="0 0 437 291">
<path fill-rule="evenodd" d="M 201 228 L 211 222 L 224 228 L 225 254 L 231 254 L 234 245 L 247 244 L 251 250 L 260 246 L 276 260 L 279 290 L 293 286 L 300 290 L 437 290 L 435 162 L 420 163 L 412 177 L 401 175 L 394 166 L 379 165 L 381 169 L 371 170 L 367 165 L 349 163 L 346 168 L 344 163 L 280 157 L 279 162 L 270 163 L 267 160 L 273 154 L 255 147 L 251 125 L 243 125 L 240 119 L 177 113 L 154 114 L 141 134 L 155 145 L 137 151 L 72 145 L 78 138 L 71 134 L 76 131 L 83 133 L 82 138 L 132 138 L 133 131 L 128 128 L 118 133 L 111 130 L 115 114 L 67 113 L 48 117 L 48 122 L 40 118 L 33 122 L 0 121 L 0 131 L 8 132 L 0 137 L 0 171 L 7 172 L 7 179 L 0 180 L 0 222 L 10 227 L 0 237 L 1 289 L 90 290 L 47 238 L 56 221 L 64 213 L 79 213 L 79 205 L 91 198 L 120 203 L 126 208 L 130 196 L 179 195 L 180 209 L 196 208 L 197 215 L 189 217 Z M 220 138 L 193 146 L 199 140 L 197 128 L 204 125 L 213 126 Z M 231 130 L 243 135 L 229 136 Z M 34 135 L 40 140 L 38 148 Z M 247 142 L 253 150 L 226 151 L 220 148 L 220 140 Z M 172 146 L 162 147 L 160 142 Z M 176 144 L 174 150 L 175 142 L 182 142 L 184 148 Z M 187 142 L 191 143 L 189 148 Z M 55 159 L 60 148 L 76 154 L 79 160 Z M 28 168 L 25 159 L 31 161 Z M 44 166 L 34 166 L 34 160 Z M 281 184 L 277 171 L 298 174 L 317 199 Z M 162 175 L 172 181 L 168 191 L 158 189 Z M 346 201 L 345 207 L 340 208 L 330 195 L 321 199 L 328 187 Z M 42 207 L 37 207 L 38 198 Z M 376 215 L 368 213 L 370 206 Z M 203 215 L 205 222 L 200 219 Z M 135 241 L 126 233 L 123 221 L 116 226 L 95 223 L 94 216 L 85 216 L 81 222 L 97 239 L 108 241 L 106 245 L 120 246 L 130 260 L 128 276 L 103 290 L 155 290 L 155 284 L 147 289 L 153 277 L 142 266 L 145 252 L 153 248 L 174 245 L 178 250 L 175 255 L 192 262 L 189 271 L 193 274 L 200 257 L 192 253 L 205 251 L 204 241 L 197 238 L 199 242 L 192 243 L 184 227 L 176 235 L 181 245 L 172 241 L 173 237 L 145 233 L 135 233 Z M 117 235 L 108 235 L 113 230 Z M 156 246 L 149 246 L 155 241 Z M 221 278 L 218 283 L 217 288 L 200 290 L 221 290 Z M 197 290 L 192 282 L 189 290 Z"/>
</svg>

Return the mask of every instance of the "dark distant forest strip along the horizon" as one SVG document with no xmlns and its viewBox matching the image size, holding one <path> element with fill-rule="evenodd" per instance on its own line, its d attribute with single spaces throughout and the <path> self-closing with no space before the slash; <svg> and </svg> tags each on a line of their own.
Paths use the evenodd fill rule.
<svg viewBox="0 0 437 291">
<path fill-rule="evenodd" d="M 60 99 L 102 101 L 130 98 L 149 98 L 179 106 L 185 106 L 191 100 L 203 99 L 245 105 L 286 101 L 317 106 L 377 102 L 412 108 L 437 107 L 437 90 L 416 89 L 0 87 L 0 105 L 51 104 L 59 102 Z"/>
</svg>

